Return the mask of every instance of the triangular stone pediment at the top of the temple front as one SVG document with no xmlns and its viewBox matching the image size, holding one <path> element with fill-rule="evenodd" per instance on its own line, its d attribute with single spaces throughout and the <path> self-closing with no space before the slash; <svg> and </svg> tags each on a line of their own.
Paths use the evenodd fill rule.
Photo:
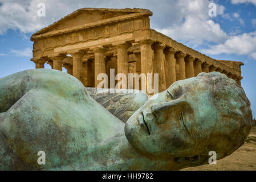
<svg viewBox="0 0 256 182">
<path fill-rule="evenodd" d="M 145 9 L 98 9 L 83 8 L 68 14 L 64 18 L 51 24 L 50 26 L 39 30 L 32 36 L 40 34 L 50 34 L 67 29 L 86 27 L 87 25 L 96 26 L 97 23 L 111 23 L 119 19 L 129 18 L 129 16 L 152 15 L 152 12 Z"/>
</svg>

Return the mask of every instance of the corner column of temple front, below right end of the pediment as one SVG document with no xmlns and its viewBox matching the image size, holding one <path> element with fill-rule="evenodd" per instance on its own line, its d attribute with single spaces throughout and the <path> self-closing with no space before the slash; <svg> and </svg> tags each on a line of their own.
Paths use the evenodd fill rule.
<svg viewBox="0 0 256 182">
<path fill-rule="evenodd" d="M 141 73 L 144 73 L 147 76 L 147 73 L 152 74 L 152 80 L 149 81 L 147 78 L 147 86 L 148 88 L 153 88 L 154 85 L 154 75 L 153 75 L 153 59 L 152 59 L 152 48 L 151 45 L 153 44 L 152 40 L 141 40 L 140 44 L 140 56 L 141 56 Z M 143 83 L 141 83 L 143 84 Z M 143 90 L 147 92 L 147 90 Z M 148 92 L 147 92 L 148 93 Z M 148 93 L 153 94 L 153 93 Z"/>
</svg>

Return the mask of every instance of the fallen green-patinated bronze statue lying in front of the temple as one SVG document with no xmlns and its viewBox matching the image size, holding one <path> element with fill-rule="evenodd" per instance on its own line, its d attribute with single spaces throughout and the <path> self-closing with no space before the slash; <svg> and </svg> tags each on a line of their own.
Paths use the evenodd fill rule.
<svg viewBox="0 0 256 182">
<path fill-rule="evenodd" d="M 177 170 L 207 164 L 209 151 L 230 155 L 251 128 L 245 92 L 218 72 L 176 81 L 149 100 L 97 98 L 51 69 L 0 78 L 0 169 Z"/>
</svg>

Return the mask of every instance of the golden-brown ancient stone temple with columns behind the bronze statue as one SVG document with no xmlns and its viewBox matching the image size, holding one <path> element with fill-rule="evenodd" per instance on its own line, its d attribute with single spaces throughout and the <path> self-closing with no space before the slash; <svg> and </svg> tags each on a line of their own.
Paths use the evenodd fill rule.
<svg viewBox="0 0 256 182">
<path fill-rule="evenodd" d="M 159 91 L 200 72 L 221 72 L 241 85 L 242 62 L 216 60 L 150 28 L 145 9 L 76 10 L 31 36 L 35 68 L 52 69 L 96 87 L 99 73 L 159 73 Z M 128 76 L 127 76 L 128 78 Z M 153 78 L 152 78 L 153 80 Z"/>
</svg>

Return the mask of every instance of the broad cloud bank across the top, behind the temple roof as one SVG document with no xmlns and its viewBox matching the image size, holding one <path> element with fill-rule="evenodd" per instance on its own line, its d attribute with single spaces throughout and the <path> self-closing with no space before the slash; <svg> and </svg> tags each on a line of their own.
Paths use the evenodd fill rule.
<svg viewBox="0 0 256 182">
<path fill-rule="evenodd" d="M 37 15 L 38 3 L 46 5 L 46 16 Z M 151 27 L 174 39 L 189 43 L 200 44 L 206 42 L 222 42 L 226 34 L 221 30 L 220 24 L 214 23 L 208 15 L 208 0 L 0 0 L 0 34 L 8 29 L 21 32 L 35 32 L 48 26 L 63 16 L 82 7 L 139 7 L 153 12 Z M 217 5 L 217 14 L 224 14 L 225 7 Z M 182 30 L 182 31 L 180 31 Z"/>
</svg>

